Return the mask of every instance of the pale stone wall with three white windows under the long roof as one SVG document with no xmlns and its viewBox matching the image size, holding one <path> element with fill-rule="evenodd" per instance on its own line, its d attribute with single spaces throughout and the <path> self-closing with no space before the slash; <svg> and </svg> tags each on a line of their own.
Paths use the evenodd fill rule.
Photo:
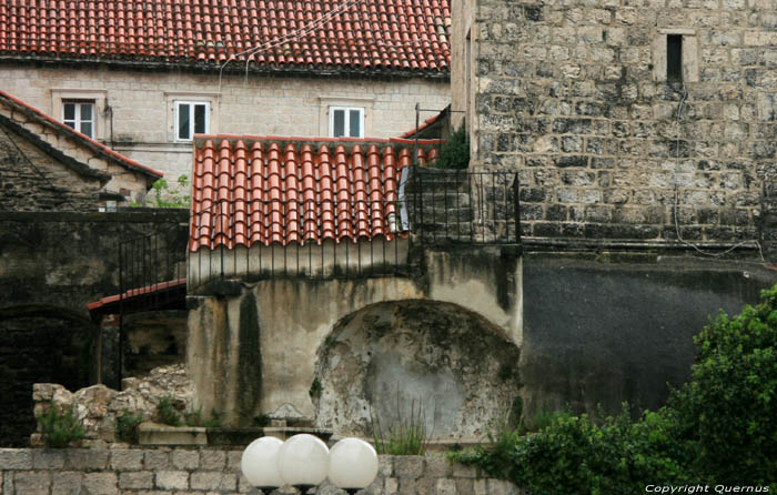
<svg viewBox="0 0 777 495">
<path fill-rule="evenodd" d="M 95 99 L 97 137 L 120 153 L 174 180 L 191 175 L 192 144 L 173 139 L 173 101 L 209 101 L 211 133 L 329 135 L 330 105 L 365 108 L 365 137 L 395 138 L 415 127 L 415 103 L 442 110 L 447 79 L 347 79 L 185 71 L 83 69 L 3 62 L 0 87 L 59 119 L 62 95 Z M 102 112 L 101 112 L 102 113 Z M 430 115 L 426 115 L 428 118 Z"/>
</svg>

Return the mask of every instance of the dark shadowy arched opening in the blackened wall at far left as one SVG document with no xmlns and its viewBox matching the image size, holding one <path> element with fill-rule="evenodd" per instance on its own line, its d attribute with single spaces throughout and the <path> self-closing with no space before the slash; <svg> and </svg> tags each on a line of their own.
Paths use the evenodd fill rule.
<svg viewBox="0 0 777 495">
<path fill-rule="evenodd" d="M 32 384 L 71 391 L 90 384 L 95 325 L 65 307 L 0 309 L 0 446 L 23 446 L 34 430 Z"/>
</svg>

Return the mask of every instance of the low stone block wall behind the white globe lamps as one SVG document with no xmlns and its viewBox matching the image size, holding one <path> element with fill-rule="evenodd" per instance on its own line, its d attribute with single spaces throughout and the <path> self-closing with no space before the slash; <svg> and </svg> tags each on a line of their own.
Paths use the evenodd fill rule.
<svg viewBox="0 0 777 495">
<path fill-rule="evenodd" d="M 4 495 L 256 494 L 240 474 L 242 451 L 0 449 Z M 278 493 L 292 494 L 291 489 Z M 317 492 L 342 494 L 329 484 Z M 381 456 L 365 495 L 521 495 L 507 482 L 477 478 L 442 455 Z"/>
</svg>

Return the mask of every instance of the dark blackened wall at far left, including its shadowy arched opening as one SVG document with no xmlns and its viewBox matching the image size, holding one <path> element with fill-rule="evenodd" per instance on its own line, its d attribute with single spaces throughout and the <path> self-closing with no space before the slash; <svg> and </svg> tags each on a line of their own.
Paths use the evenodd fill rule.
<svg viewBox="0 0 777 495">
<path fill-rule="evenodd" d="M 172 228 L 182 250 L 185 221 L 180 211 L 0 212 L 0 445 L 23 444 L 34 427 L 33 383 L 89 384 L 87 303 L 119 292 L 118 242 Z"/>
</svg>

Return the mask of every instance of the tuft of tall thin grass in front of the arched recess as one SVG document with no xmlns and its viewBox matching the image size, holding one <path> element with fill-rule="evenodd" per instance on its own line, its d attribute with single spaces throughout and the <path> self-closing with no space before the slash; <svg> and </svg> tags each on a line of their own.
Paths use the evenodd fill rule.
<svg viewBox="0 0 777 495">
<path fill-rule="evenodd" d="M 387 455 L 424 455 L 430 435 L 426 432 L 426 413 L 423 404 L 417 408 L 415 400 L 411 401 L 410 415 L 402 414 L 402 404 L 397 393 L 397 421 L 386 432 L 377 416 L 372 417 L 372 437 L 375 451 Z"/>
</svg>

